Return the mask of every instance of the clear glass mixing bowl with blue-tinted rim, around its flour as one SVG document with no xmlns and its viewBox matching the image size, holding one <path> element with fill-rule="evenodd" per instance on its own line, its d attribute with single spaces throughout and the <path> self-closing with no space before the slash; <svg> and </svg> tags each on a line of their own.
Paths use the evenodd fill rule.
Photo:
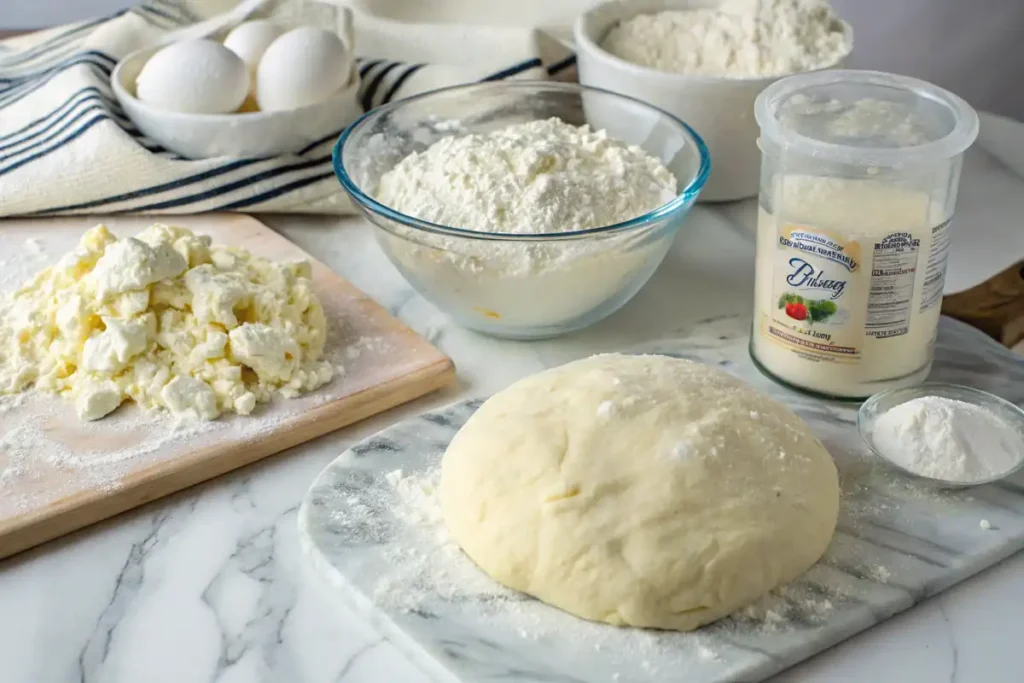
<svg viewBox="0 0 1024 683">
<path fill-rule="evenodd" d="M 381 175 L 441 137 L 550 117 L 640 145 L 675 174 L 678 196 L 623 223 L 529 236 L 439 225 L 374 199 Z M 402 99 L 358 119 L 334 148 L 338 179 L 406 280 L 460 325 L 511 339 L 579 330 L 629 301 L 665 258 L 710 169 L 703 141 L 671 114 L 546 81 L 478 83 Z"/>
</svg>

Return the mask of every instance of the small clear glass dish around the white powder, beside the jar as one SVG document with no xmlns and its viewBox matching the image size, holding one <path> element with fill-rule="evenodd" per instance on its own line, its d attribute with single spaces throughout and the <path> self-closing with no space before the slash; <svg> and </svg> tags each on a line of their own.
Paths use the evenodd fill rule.
<svg viewBox="0 0 1024 683">
<path fill-rule="evenodd" d="M 1024 467 L 1024 453 L 1018 453 L 1017 462 L 1013 465 L 1013 467 L 1005 472 L 1000 472 L 999 474 L 985 479 L 952 481 L 949 479 L 936 479 L 934 477 L 918 474 L 916 472 L 906 469 L 899 463 L 890 460 L 881 449 L 877 449 L 874 446 L 872 437 L 874 431 L 874 421 L 886 411 L 901 403 L 905 403 L 908 400 L 921 398 L 922 396 L 941 396 L 943 398 L 962 400 L 966 403 L 973 403 L 974 405 L 984 408 L 990 411 L 996 418 L 1011 425 L 1017 430 L 1021 437 L 1024 438 L 1024 411 L 1014 403 L 1011 403 L 1009 400 L 999 398 L 998 396 L 988 393 L 987 391 L 964 386 L 962 384 L 948 384 L 945 382 L 925 382 L 924 384 L 919 384 L 918 386 L 912 387 L 887 389 L 872 395 L 860 405 L 860 410 L 857 411 L 857 431 L 860 432 L 861 438 L 864 439 L 864 443 L 866 443 L 867 447 L 871 450 L 871 453 L 885 461 L 885 463 L 890 467 L 902 472 L 915 481 L 935 488 L 966 488 L 968 486 L 991 483 L 1006 478 L 1020 471 L 1021 468 Z"/>
</svg>

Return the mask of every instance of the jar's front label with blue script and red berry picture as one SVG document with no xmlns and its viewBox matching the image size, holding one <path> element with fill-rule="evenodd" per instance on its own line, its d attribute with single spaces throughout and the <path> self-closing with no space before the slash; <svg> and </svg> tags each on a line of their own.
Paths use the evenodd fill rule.
<svg viewBox="0 0 1024 683">
<path fill-rule="evenodd" d="M 762 321 L 762 333 L 801 355 L 857 361 L 870 281 L 870 274 L 865 276 L 864 272 L 862 241 L 783 223 L 775 247 L 771 278 L 774 305 Z"/>
</svg>

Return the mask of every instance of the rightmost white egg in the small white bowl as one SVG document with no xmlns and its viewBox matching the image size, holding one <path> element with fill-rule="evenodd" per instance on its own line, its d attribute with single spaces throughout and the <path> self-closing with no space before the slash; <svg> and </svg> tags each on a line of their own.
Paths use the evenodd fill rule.
<svg viewBox="0 0 1024 683">
<path fill-rule="evenodd" d="M 348 82 L 352 56 L 330 31 L 289 31 L 263 52 L 256 70 L 256 101 L 264 112 L 323 101 Z"/>
</svg>

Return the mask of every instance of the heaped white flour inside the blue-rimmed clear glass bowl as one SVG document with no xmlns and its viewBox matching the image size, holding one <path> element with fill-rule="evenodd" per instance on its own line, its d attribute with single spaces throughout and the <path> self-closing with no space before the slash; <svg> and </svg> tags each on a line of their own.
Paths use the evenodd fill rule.
<svg viewBox="0 0 1024 683">
<path fill-rule="evenodd" d="M 440 225 L 550 234 L 636 218 L 676 189 L 675 176 L 639 146 L 547 119 L 441 138 L 385 173 L 377 199 Z"/>
</svg>

